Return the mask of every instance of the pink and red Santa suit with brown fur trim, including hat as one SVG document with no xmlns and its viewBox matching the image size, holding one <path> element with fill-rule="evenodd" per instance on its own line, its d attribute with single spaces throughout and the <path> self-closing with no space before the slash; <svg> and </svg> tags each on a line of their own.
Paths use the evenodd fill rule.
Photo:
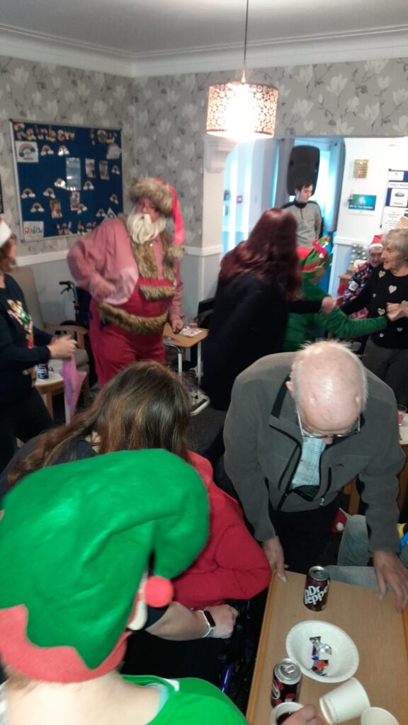
<svg viewBox="0 0 408 725">
<path fill-rule="evenodd" d="M 144 177 L 130 189 L 134 204 L 147 196 L 162 218 L 174 219 L 174 237 L 162 231 L 140 244 L 127 219 L 104 221 L 68 253 L 78 286 L 90 292 L 90 337 L 100 386 L 136 360 L 164 363 L 163 327 L 181 319 L 179 268 L 184 228 L 174 188 Z M 113 291 L 102 292 L 104 283 Z"/>
</svg>

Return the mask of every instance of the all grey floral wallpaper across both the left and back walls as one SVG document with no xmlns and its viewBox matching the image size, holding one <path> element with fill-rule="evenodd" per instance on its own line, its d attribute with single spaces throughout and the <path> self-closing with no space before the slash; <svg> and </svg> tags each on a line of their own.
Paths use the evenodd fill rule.
<svg viewBox="0 0 408 725">
<path fill-rule="evenodd" d="M 239 79 L 211 72 L 130 79 L 0 57 L 0 175 L 7 219 L 17 221 L 9 118 L 120 126 L 126 186 L 158 175 L 179 192 L 186 242 L 200 247 L 207 88 Z M 408 59 L 258 69 L 248 80 L 279 88 L 277 136 L 408 136 Z M 65 249 L 67 239 L 20 245 Z"/>
</svg>

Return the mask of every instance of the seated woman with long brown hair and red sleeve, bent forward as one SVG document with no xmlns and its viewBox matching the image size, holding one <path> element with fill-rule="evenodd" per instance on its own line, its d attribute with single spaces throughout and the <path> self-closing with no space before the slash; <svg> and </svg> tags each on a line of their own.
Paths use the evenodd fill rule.
<svg viewBox="0 0 408 725">
<path fill-rule="evenodd" d="M 175 602 L 164 612 L 150 611 L 147 634 L 137 635 L 136 656 L 128 653 L 126 672 L 135 674 L 136 663 L 145 666 L 151 656 L 150 674 L 215 682 L 220 639 L 232 634 L 237 617 L 225 600 L 250 599 L 267 587 L 271 573 L 240 506 L 213 483 L 208 461 L 188 450 L 189 410 L 189 395 L 176 373 L 152 361 L 134 363 L 102 388 L 89 410 L 26 444 L 1 477 L 0 492 L 4 479 L 10 489 L 39 468 L 115 451 L 162 448 L 193 465 L 208 492 L 210 537 L 196 562 L 174 581 Z M 131 638 L 128 649 L 133 647 Z"/>
</svg>

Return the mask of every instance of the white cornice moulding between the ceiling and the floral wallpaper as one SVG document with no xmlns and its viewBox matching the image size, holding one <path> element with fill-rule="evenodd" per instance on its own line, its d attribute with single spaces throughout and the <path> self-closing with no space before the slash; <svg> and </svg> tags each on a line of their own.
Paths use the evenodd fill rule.
<svg viewBox="0 0 408 725">
<path fill-rule="evenodd" d="M 401 58 L 407 55 L 407 48 L 407 26 L 288 37 L 276 42 L 249 43 L 247 67 L 344 62 L 345 58 L 349 61 Z M 14 58 L 102 71 L 126 78 L 234 70 L 242 62 L 241 43 L 130 53 L 1 24 L 0 49 L 1 55 Z"/>
</svg>

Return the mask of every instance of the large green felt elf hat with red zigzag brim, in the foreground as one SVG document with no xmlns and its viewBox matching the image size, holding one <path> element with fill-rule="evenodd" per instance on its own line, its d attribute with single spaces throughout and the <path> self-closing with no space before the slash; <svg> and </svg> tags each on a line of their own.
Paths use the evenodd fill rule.
<svg viewBox="0 0 408 725">
<path fill-rule="evenodd" d="M 42 468 L 3 502 L 0 655 L 46 682 L 118 666 L 150 557 L 173 578 L 208 536 L 200 476 L 164 450 Z"/>
</svg>

